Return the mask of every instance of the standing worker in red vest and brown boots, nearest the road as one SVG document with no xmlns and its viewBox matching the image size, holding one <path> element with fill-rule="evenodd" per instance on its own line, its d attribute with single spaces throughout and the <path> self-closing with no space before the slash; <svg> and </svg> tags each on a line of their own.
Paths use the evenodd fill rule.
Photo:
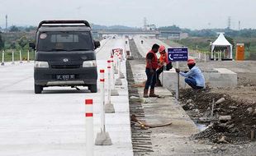
<svg viewBox="0 0 256 156">
<path fill-rule="evenodd" d="M 144 88 L 144 98 L 148 97 L 159 97 L 159 95 L 154 94 L 154 86 L 156 83 L 156 69 L 159 67 L 158 65 L 158 57 L 156 56 L 156 53 L 159 51 L 159 45 L 154 44 L 152 49 L 147 53 L 146 55 L 146 75 L 147 75 L 147 81 L 145 83 Z M 150 86 L 150 92 L 149 92 L 149 86 Z"/>
</svg>

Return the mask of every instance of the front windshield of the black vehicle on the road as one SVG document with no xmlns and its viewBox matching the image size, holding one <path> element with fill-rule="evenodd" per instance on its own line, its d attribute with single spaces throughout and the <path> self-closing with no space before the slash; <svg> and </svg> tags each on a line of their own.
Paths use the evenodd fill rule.
<svg viewBox="0 0 256 156">
<path fill-rule="evenodd" d="M 38 51 L 86 51 L 92 50 L 89 32 L 41 32 L 37 45 Z"/>
</svg>

